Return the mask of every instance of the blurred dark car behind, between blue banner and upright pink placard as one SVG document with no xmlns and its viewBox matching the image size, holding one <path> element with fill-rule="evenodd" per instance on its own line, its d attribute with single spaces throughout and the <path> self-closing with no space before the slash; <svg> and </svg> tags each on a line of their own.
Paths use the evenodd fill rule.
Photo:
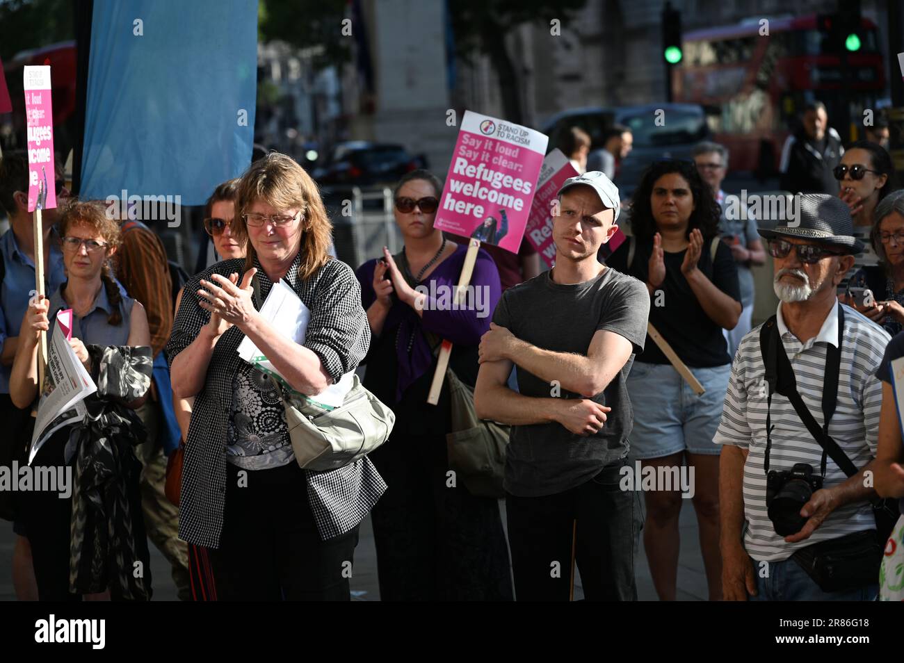
<svg viewBox="0 0 904 663">
<path fill-rule="evenodd" d="M 402 145 L 347 141 L 334 145 L 311 175 L 321 186 L 392 184 L 405 173 L 427 167 L 423 154 L 413 156 Z"/>
</svg>

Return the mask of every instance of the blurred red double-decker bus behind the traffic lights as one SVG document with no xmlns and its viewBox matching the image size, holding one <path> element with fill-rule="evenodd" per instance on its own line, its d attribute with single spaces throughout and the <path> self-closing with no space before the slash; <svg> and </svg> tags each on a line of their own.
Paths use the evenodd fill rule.
<svg viewBox="0 0 904 663">
<path fill-rule="evenodd" d="M 706 108 L 713 140 L 730 150 L 730 168 L 762 176 L 777 170 L 807 101 L 825 104 L 829 125 L 847 143 L 858 137 L 853 130 L 862 128 L 863 111 L 875 111 L 885 96 L 875 23 L 862 19 L 860 48 L 843 56 L 826 52 L 826 26 L 816 14 L 767 21 L 684 33 L 683 61 L 672 78 L 675 101 Z M 851 126 L 839 126 L 846 117 Z"/>
</svg>

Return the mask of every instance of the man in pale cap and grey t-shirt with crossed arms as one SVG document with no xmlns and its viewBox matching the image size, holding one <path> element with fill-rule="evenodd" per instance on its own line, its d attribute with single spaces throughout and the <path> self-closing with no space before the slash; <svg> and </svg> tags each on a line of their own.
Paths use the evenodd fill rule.
<svg viewBox="0 0 904 663">
<path fill-rule="evenodd" d="M 568 601 L 570 573 L 550 569 L 572 558 L 586 599 L 636 600 L 636 500 L 607 486 L 624 477 L 626 378 L 650 295 L 597 260 L 618 211 L 605 174 L 567 180 L 553 210 L 555 266 L 506 290 L 480 341 L 477 416 L 513 425 L 504 485 L 519 601 Z M 521 393 L 507 384 L 513 365 Z"/>
</svg>

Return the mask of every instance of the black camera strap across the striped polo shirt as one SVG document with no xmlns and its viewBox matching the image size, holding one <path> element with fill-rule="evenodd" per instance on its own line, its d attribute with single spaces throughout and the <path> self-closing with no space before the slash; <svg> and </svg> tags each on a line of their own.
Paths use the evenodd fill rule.
<svg viewBox="0 0 904 663">
<path fill-rule="evenodd" d="M 772 446 L 772 425 L 769 416 L 769 408 L 772 405 L 772 394 L 778 393 L 786 397 L 794 406 L 797 416 L 813 435 L 813 438 L 823 447 L 821 471 L 825 476 L 826 454 L 832 458 L 835 464 L 849 477 L 856 474 L 857 468 L 829 435 L 829 422 L 835 412 L 838 402 L 838 378 L 841 370 L 842 336 L 844 331 L 844 309 L 838 305 L 838 345 L 827 344 L 825 349 L 825 371 L 823 381 L 823 417 L 824 425 L 816 422 L 804 403 L 804 399 L 797 392 L 797 380 L 791 361 L 788 360 L 785 346 L 778 334 L 776 316 L 773 315 L 759 331 L 760 351 L 763 356 L 763 364 L 766 367 L 766 381 L 769 387 L 766 412 L 766 458 L 763 462 L 766 473 L 769 473 L 769 450 Z"/>
</svg>

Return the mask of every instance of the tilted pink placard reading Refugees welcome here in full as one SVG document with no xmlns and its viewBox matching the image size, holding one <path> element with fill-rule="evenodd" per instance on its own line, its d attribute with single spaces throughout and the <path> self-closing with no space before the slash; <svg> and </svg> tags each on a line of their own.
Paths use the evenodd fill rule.
<svg viewBox="0 0 904 663">
<path fill-rule="evenodd" d="M 517 253 L 548 141 L 465 111 L 434 226 Z"/>
</svg>

